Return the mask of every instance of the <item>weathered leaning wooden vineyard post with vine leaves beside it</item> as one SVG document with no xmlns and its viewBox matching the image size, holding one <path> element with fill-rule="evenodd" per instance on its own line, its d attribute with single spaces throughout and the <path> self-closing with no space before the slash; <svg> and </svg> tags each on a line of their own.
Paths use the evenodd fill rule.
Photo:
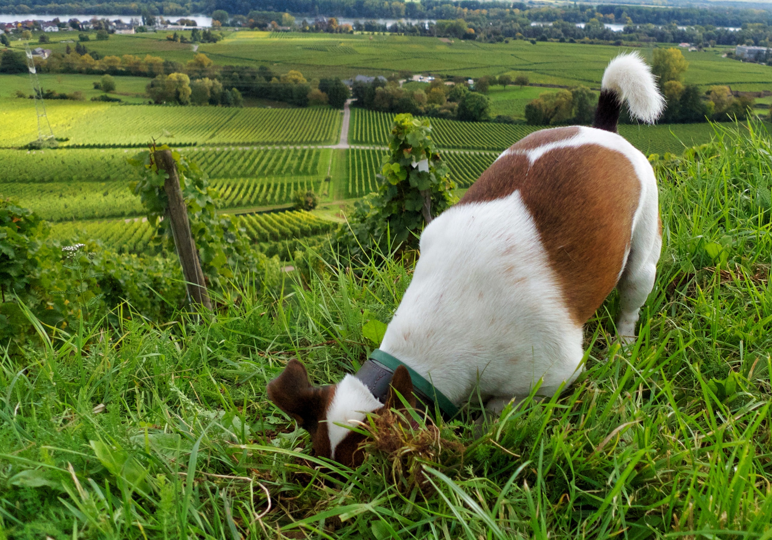
<svg viewBox="0 0 772 540">
<path fill-rule="evenodd" d="M 201 263 L 198 262 L 198 250 L 191 234 L 191 224 L 188 221 L 188 208 L 182 197 L 180 177 L 177 174 L 177 166 L 171 157 L 171 150 L 156 150 L 155 162 L 159 170 L 165 170 L 168 178 L 164 181 L 164 191 L 169 199 L 166 210 L 166 218 L 171 226 L 171 234 L 174 236 L 174 247 L 182 265 L 182 275 L 188 286 L 188 295 L 193 302 L 203 305 L 206 309 L 212 309 L 212 300 L 206 290 L 204 272 L 201 272 Z"/>
</svg>

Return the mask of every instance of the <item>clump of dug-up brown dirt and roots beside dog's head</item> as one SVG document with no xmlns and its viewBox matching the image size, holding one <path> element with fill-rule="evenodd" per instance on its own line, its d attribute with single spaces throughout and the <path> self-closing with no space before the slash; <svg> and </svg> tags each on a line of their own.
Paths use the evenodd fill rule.
<svg viewBox="0 0 772 540">
<path fill-rule="evenodd" d="M 373 417 L 370 432 L 362 446 L 365 454 L 388 461 L 391 479 L 404 493 L 415 487 L 425 494 L 432 490 L 423 465 L 450 475 L 463 465 L 466 447 L 459 440 L 444 437 L 434 424 L 416 421 L 405 410 L 384 410 Z"/>
</svg>

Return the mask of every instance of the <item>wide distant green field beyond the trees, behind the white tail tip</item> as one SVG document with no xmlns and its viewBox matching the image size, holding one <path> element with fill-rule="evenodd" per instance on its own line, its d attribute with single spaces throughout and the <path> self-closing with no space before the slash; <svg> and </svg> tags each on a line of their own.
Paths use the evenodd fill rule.
<svg viewBox="0 0 772 540">
<path fill-rule="evenodd" d="M 250 64 L 270 58 L 276 69 L 300 69 L 313 77 L 348 77 L 357 73 L 388 75 L 399 69 L 479 77 L 526 73 L 532 83 L 598 87 L 608 60 L 621 47 L 523 40 L 479 43 L 404 35 L 318 35 L 234 32 L 225 40 L 199 48 L 220 64 Z M 642 49 L 649 57 L 651 49 Z M 723 49 L 684 52 L 689 62 L 686 83 L 730 84 L 756 90 L 772 83 L 772 68 L 722 58 Z M 352 67 L 354 66 L 354 67 Z"/>
</svg>

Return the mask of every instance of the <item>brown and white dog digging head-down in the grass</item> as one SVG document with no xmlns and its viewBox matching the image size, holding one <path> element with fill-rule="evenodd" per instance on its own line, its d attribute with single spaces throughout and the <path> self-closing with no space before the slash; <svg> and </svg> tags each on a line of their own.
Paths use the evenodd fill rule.
<svg viewBox="0 0 772 540">
<path fill-rule="evenodd" d="M 654 171 L 617 133 L 622 103 L 653 122 L 664 106 L 636 54 L 611 60 L 594 127 L 520 140 L 421 236 L 421 257 L 380 349 L 431 379 L 455 405 L 476 386 L 490 410 L 550 396 L 578 375 L 582 328 L 616 286 L 617 332 L 635 338 L 662 247 Z M 392 384 L 412 392 L 404 366 Z M 312 386 L 292 360 L 268 385 L 310 431 L 318 455 L 352 464 L 362 435 L 347 429 L 384 407 L 360 380 Z"/>
</svg>

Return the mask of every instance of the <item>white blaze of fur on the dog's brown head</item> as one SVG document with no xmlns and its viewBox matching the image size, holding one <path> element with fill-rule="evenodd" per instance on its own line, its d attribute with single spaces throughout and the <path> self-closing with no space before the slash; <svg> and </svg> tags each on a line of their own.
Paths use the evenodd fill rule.
<svg viewBox="0 0 772 540">
<path fill-rule="evenodd" d="M 337 424 L 354 426 L 364 420 L 367 413 L 383 407 L 367 386 L 353 375 L 347 375 L 337 383 L 335 395 L 327 407 L 327 433 L 330 435 L 330 451 L 335 457 L 335 447 L 351 430 Z"/>
</svg>

